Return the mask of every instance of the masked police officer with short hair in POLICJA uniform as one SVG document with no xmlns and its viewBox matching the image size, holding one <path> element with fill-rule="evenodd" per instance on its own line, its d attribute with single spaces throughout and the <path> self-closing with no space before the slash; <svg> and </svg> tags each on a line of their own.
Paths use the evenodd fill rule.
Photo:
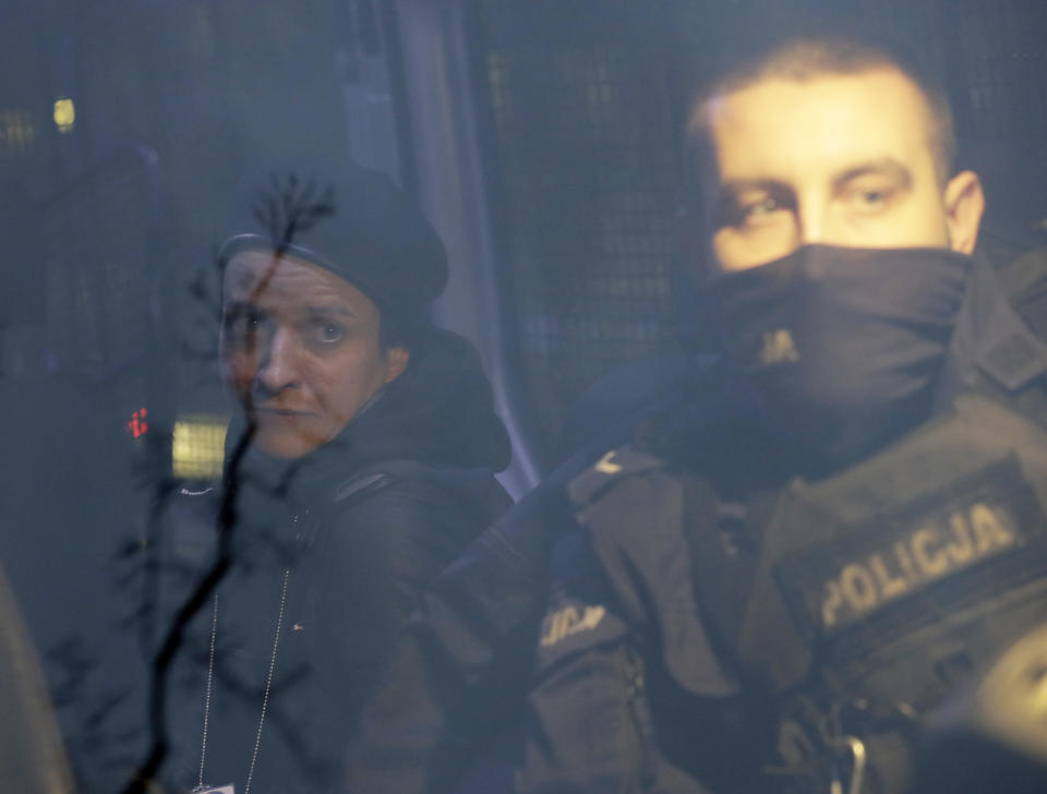
<svg viewBox="0 0 1047 794">
<path fill-rule="evenodd" d="M 1047 618 L 1047 349 L 973 256 L 943 93 L 838 36 L 739 63 L 688 124 L 721 354 L 564 478 L 516 791 L 901 791 L 922 717 Z M 497 681 L 508 631 L 446 652 L 462 581 L 431 591 L 416 667 Z M 482 712 L 376 702 L 360 746 L 429 730 L 430 768 Z"/>
</svg>

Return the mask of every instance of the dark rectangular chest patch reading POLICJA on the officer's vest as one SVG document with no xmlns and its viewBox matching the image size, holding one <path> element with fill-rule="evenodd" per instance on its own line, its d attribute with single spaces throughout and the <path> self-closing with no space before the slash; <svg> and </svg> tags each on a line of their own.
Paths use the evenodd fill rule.
<svg viewBox="0 0 1047 794">
<path fill-rule="evenodd" d="M 1022 564 L 1042 568 L 1045 527 L 1035 493 L 1018 461 L 1009 459 L 884 513 L 830 544 L 787 556 L 775 578 L 808 629 L 829 638 L 1022 549 L 1036 546 Z"/>
</svg>

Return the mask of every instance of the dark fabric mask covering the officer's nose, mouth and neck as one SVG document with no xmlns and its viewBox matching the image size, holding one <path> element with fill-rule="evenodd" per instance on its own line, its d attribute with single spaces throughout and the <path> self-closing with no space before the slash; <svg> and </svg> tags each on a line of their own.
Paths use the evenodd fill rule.
<svg viewBox="0 0 1047 794">
<path fill-rule="evenodd" d="M 773 429 L 837 467 L 928 416 L 971 267 L 938 249 L 809 245 L 708 296 Z"/>
</svg>

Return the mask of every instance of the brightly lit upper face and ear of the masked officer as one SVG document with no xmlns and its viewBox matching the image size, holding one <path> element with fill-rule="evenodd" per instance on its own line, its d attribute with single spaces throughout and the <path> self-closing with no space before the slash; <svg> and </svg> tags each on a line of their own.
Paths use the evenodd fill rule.
<svg viewBox="0 0 1047 794">
<path fill-rule="evenodd" d="M 929 109 L 902 73 L 767 79 L 713 97 L 705 112 L 721 269 L 810 243 L 973 251 L 978 179 L 965 171 L 942 188 Z"/>
</svg>

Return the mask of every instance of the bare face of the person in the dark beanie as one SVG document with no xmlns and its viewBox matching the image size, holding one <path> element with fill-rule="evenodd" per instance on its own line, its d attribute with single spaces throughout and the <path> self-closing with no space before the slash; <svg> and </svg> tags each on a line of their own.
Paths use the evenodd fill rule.
<svg viewBox="0 0 1047 794">
<path fill-rule="evenodd" d="M 334 438 L 406 368 L 378 345 L 378 310 L 348 281 L 294 256 L 244 251 L 226 268 L 221 358 L 256 423 L 254 443 L 297 458 Z"/>
</svg>

